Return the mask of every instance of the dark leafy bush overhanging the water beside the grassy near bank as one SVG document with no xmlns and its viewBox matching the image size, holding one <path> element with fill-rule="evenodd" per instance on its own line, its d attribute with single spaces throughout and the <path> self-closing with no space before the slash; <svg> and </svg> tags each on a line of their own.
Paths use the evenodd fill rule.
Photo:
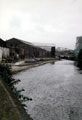
<svg viewBox="0 0 82 120">
<path fill-rule="evenodd" d="M 8 84 L 8 86 L 11 88 L 12 92 L 16 95 L 16 97 L 23 103 L 27 100 L 32 100 L 31 98 L 25 97 L 21 94 L 22 90 L 17 90 L 15 87 L 16 84 L 20 82 L 20 80 L 16 80 L 13 78 L 13 74 L 11 71 L 11 66 L 8 64 L 0 63 L 0 76 Z"/>
</svg>

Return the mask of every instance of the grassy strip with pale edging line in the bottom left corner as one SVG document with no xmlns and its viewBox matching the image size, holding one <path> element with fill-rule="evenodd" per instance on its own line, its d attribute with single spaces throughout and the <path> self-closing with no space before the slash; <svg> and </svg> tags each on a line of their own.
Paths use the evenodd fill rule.
<svg viewBox="0 0 82 120">
<path fill-rule="evenodd" d="M 0 78 L 0 120 L 32 120 L 13 95 L 10 88 Z"/>
</svg>

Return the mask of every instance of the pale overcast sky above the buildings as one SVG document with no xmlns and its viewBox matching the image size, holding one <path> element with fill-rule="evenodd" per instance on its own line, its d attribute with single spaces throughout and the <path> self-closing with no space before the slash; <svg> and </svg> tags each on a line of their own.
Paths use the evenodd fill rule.
<svg viewBox="0 0 82 120">
<path fill-rule="evenodd" d="M 0 0 L 0 37 L 74 49 L 82 35 L 82 0 Z"/>
</svg>

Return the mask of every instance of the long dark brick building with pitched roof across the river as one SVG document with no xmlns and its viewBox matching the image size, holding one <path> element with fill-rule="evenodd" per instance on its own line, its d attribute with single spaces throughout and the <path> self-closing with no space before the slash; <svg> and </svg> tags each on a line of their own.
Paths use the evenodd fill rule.
<svg viewBox="0 0 82 120">
<path fill-rule="evenodd" d="M 26 42 L 17 38 L 12 38 L 6 41 L 6 46 L 10 49 L 10 57 L 19 58 L 38 58 L 47 57 L 47 51 L 34 46 L 30 42 Z"/>
</svg>

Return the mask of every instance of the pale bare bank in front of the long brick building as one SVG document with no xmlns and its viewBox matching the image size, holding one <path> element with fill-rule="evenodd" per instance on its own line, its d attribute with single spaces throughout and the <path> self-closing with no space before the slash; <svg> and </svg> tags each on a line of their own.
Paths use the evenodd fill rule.
<svg viewBox="0 0 82 120">
<path fill-rule="evenodd" d="M 26 70 L 26 69 L 29 69 L 29 68 L 32 68 L 32 67 L 37 67 L 37 66 L 40 66 L 40 65 L 43 65 L 43 64 L 47 64 L 47 63 L 52 63 L 52 62 L 56 62 L 58 61 L 59 59 L 48 59 L 48 60 L 43 60 L 43 61 L 38 61 L 38 62 L 34 62 L 34 63 L 26 63 L 26 64 L 23 64 L 22 62 L 20 64 L 17 65 L 17 63 L 15 65 L 12 66 L 12 72 L 13 73 L 17 73 L 17 72 L 20 72 L 20 71 L 23 71 L 23 70 Z"/>
</svg>

